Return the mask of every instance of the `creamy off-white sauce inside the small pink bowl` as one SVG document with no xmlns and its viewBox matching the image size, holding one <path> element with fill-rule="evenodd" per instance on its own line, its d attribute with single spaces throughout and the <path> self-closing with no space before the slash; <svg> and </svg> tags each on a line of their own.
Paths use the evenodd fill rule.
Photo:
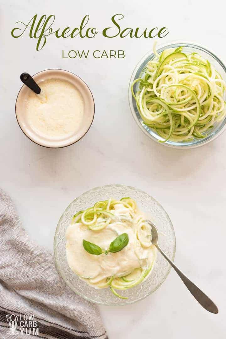
<svg viewBox="0 0 226 339">
<path fill-rule="evenodd" d="M 26 115 L 38 135 L 60 139 L 77 132 L 81 126 L 84 103 L 78 89 L 68 81 L 49 79 L 39 83 L 40 94 L 30 92 Z"/>
</svg>

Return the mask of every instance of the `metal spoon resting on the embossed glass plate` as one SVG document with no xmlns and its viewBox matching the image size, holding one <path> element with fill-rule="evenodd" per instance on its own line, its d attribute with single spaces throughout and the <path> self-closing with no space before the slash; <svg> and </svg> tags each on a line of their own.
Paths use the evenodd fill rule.
<svg viewBox="0 0 226 339">
<path fill-rule="evenodd" d="M 152 244 L 157 247 L 159 252 L 163 255 L 163 257 L 170 263 L 170 265 L 174 268 L 174 270 L 177 272 L 181 280 L 184 282 L 184 284 L 187 286 L 188 290 L 191 292 L 194 298 L 202 305 L 207 311 L 211 313 L 218 313 L 218 308 L 212 302 L 212 300 L 203 293 L 199 287 L 197 287 L 193 282 L 191 282 L 180 270 L 179 268 L 167 257 L 167 255 L 162 251 L 161 247 L 158 243 L 158 230 L 155 227 L 155 225 L 152 224 L 149 220 L 146 220 L 147 223 L 152 227 L 151 234 L 152 234 Z"/>
</svg>

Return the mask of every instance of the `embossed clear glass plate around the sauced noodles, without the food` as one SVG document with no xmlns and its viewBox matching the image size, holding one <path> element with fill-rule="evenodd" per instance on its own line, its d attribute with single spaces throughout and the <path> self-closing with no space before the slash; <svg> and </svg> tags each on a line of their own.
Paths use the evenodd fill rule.
<svg viewBox="0 0 226 339">
<path fill-rule="evenodd" d="M 129 298 L 126 300 L 116 297 L 109 288 L 95 289 L 81 280 L 76 273 L 71 271 L 67 264 L 65 240 L 65 232 L 71 218 L 76 212 L 85 210 L 87 207 L 93 206 L 95 202 L 106 200 L 110 197 L 115 199 L 121 199 L 122 197 L 135 199 L 140 209 L 146 212 L 147 216 L 157 226 L 159 231 L 159 243 L 163 251 L 171 260 L 174 260 L 176 240 L 169 216 L 164 211 L 163 207 L 147 193 L 142 192 L 137 188 L 124 185 L 96 187 L 93 188 L 93 190 L 83 193 L 71 202 L 57 225 L 54 239 L 54 254 L 58 272 L 74 292 L 85 299 L 98 304 L 121 306 L 142 300 L 156 291 L 168 276 L 171 266 L 160 253 L 157 253 L 156 264 L 150 276 L 141 284 L 128 290 L 120 291 L 121 295 Z"/>
</svg>

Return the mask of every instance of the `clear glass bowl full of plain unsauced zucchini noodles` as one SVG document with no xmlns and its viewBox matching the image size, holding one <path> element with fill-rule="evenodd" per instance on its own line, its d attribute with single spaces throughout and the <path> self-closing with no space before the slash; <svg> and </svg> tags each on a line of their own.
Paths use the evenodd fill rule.
<svg viewBox="0 0 226 339">
<path fill-rule="evenodd" d="M 130 81 L 130 108 L 153 140 L 192 148 L 213 140 L 226 122 L 226 68 L 205 47 L 171 43 L 148 53 Z"/>
</svg>

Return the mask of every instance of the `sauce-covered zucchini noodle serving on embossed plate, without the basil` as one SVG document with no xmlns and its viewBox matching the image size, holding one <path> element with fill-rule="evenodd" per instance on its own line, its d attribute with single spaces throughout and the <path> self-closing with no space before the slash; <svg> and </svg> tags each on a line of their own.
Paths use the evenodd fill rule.
<svg viewBox="0 0 226 339">
<path fill-rule="evenodd" d="M 117 297 L 127 299 L 115 290 L 127 290 L 144 281 L 156 261 L 151 226 L 145 220 L 136 202 L 129 197 L 98 201 L 93 207 L 76 213 L 66 232 L 71 270 L 91 286 L 109 288 Z M 122 233 L 127 233 L 128 244 L 119 252 L 105 253 L 112 239 Z M 82 238 L 100 246 L 103 253 L 86 252 Z"/>
</svg>

